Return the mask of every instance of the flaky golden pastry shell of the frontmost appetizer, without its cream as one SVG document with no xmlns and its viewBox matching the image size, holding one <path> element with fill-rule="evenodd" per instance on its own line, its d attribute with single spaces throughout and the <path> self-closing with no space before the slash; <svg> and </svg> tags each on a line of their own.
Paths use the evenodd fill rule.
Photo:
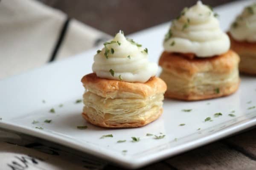
<svg viewBox="0 0 256 170">
<path fill-rule="evenodd" d="M 81 80 L 84 93 L 83 117 L 102 127 L 140 127 L 157 119 L 163 111 L 166 84 L 157 77 L 147 82 L 103 79 L 95 73 Z"/>
</svg>

